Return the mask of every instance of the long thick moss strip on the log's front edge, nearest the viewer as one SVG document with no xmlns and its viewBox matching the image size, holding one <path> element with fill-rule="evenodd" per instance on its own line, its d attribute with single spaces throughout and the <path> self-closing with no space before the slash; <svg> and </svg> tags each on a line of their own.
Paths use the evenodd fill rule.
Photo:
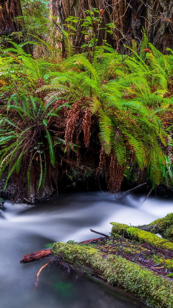
<svg viewBox="0 0 173 308">
<path fill-rule="evenodd" d="M 123 286 L 151 306 L 173 307 L 173 283 L 140 265 L 115 255 L 103 259 L 102 254 L 94 248 L 60 242 L 53 244 L 52 252 L 55 256 L 63 255 L 66 261 L 89 265 L 100 271 L 111 285 Z"/>
</svg>

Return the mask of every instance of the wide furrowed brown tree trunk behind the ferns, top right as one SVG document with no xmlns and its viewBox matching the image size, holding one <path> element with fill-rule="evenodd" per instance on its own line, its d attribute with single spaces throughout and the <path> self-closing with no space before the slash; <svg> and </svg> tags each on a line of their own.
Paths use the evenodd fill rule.
<svg viewBox="0 0 173 308">
<path fill-rule="evenodd" d="M 168 0 L 52 0 L 54 2 L 54 15 L 58 14 L 62 28 L 65 28 L 65 18 L 76 16 L 85 18 L 85 10 L 92 7 L 99 11 L 104 10 L 101 27 L 113 22 L 115 28 L 113 34 L 106 34 L 107 42 L 117 51 L 124 53 L 125 45 L 130 46 L 135 39 L 139 45 L 145 30 L 149 42 L 161 52 L 167 53 L 166 48 L 173 49 L 173 2 Z M 144 30 L 143 30 L 144 29 Z M 100 30 L 100 39 L 104 37 L 104 31 Z M 76 38 L 73 44 L 75 52 L 79 52 L 82 44 L 85 44 L 81 27 L 77 27 Z M 99 42 L 100 43 L 100 42 Z"/>
</svg>

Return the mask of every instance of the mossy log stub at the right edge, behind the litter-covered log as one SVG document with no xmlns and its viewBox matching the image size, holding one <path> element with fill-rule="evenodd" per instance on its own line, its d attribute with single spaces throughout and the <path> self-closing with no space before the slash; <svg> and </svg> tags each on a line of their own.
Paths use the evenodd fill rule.
<svg viewBox="0 0 173 308">
<path fill-rule="evenodd" d="M 173 241 L 173 213 L 167 214 L 163 218 L 156 219 L 149 225 L 138 226 L 138 229 L 151 233 L 159 233 L 168 241 Z"/>
</svg>

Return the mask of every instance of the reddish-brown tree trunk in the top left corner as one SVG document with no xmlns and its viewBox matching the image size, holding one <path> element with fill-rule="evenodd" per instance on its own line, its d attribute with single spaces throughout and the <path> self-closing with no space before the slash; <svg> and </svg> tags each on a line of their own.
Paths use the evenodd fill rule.
<svg viewBox="0 0 173 308">
<path fill-rule="evenodd" d="M 16 17 L 22 16 L 22 8 L 20 0 L 0 0 L 0 37 L 11 35 L 14 32 L 20 32 L 22 26 L 20 22 L 15 20 Z M 19 39 L 12 38 L 15 43 L 21 43 Z M 9 47 L 8 43 L 5 46 Z M 23 49 L 31 54 L 31 47 L 29 44 L 23 46 Z"/>
</svg>

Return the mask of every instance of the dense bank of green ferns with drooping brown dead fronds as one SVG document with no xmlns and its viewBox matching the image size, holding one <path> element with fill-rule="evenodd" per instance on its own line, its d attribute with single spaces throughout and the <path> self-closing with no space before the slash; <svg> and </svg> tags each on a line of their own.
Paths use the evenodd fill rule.
<svg viewBox="0 0 173 308">
<path fill-rule="evenodd" d="M 112 193 L 134 166 L 140 181 L 169 185 L 173 52 L 161 54 L 145 36 L 129 55 L 108 46 L 73 55 L 66 43 L 67 59 L 36 59 L 12 42 L 1 50 L 0 176 L 32 201 L 57 188 L 62 161 L 92 167 Z"/>
</svg>

